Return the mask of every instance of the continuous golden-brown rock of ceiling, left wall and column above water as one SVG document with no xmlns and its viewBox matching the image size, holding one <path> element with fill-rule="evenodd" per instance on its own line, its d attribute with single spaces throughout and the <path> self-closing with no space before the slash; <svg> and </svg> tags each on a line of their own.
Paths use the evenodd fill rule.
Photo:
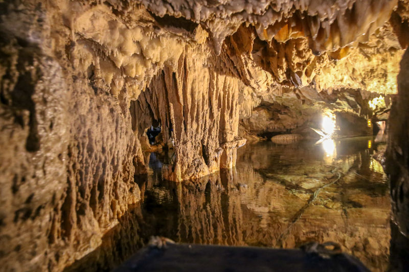
<svg viewBox="0 0 409 272">
<path fill-rule="evenodd" d="M 306 133 L 324 109 L 387 118 L 407 7 L 1 2 L 3 269 L 60 271 L 96 249 L 140 200 L 143 151 L 173 152 L 166 179 L 198 179 L 233 167 L 245 138 Z"/>
</svg>

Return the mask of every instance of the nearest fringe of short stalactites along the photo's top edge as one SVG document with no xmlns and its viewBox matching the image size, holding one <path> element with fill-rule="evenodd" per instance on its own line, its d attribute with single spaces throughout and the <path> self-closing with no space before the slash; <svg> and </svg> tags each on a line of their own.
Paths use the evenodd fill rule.
<svg viewBox="0 0 409 272">
<path fill-rule="evenodd" d="M 244 23 L 253 24 L 262 40 L 279 42 L 308 37 L 313 52 L 336 51 L 369 35 L 388 20 L 396 0 L 203 2 L 162 0 L 142 3 L 158 16 L 170 14 L 201 23 L 208 29 L 216 53 L 226 36 Z"/>
</svg>

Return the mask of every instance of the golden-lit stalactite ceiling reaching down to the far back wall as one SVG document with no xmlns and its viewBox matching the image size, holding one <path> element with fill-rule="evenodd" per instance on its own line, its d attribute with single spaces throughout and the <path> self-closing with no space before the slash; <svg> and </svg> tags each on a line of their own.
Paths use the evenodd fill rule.
<svg viewBox="0 0 409 272">
<path fill-rule="evenodd" d="M 192 50 L 203 66 L 240 81 L 247 138 L 305 127 L 323 108 L 385 119 L 368 103 L 383 95 L 388 110 L 406 46 L 404 1 L 57 3 L 70 61 L 95 88 L 129 104 Z"/>
</svg>

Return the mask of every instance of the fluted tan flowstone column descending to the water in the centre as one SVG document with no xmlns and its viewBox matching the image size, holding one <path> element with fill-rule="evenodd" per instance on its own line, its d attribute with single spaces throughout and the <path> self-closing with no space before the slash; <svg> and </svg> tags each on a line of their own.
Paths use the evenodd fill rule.
<svg viewBox="0 0 409 272">
<path fill-rule="evenodd" d="M 162 141 L 173 145 L 175 161 L 164 177 L 181 181 L 235 165 L 238 92 L 242 83 L 208 63 L 207 56 L 186 46 L 177 67 L 153 77 L 132 107 L 138 136 L 153 120 L 162 124 Z M 148 118 L 148 121 L 146 121 Z"/>
</svg>

